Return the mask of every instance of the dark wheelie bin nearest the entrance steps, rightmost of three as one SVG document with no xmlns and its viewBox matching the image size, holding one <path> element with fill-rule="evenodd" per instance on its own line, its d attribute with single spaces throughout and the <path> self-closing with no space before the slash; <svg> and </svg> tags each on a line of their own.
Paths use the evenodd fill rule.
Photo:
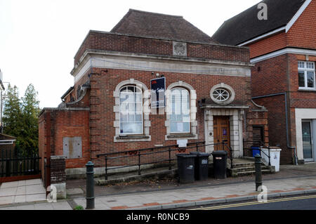
<svg viewBox="0 0 316 224">
<path fill-rule="evenodd" d="M 226 151 L 212 152 L 214 178 L 216 179 L 226 178 L 227 154 L 228 153 Z"/>
</svg>

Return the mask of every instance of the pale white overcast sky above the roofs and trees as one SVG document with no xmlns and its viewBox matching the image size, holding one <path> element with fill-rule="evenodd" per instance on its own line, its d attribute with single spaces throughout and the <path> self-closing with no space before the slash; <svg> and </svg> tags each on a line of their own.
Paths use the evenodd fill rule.
<svg viewBox="0 0 316 224">
<path fill-rule="evenodd" d="M 129 8 L 185 20 L 212 36 L 225 21 L 260 0 L 106 1 L 0 0 L 0 69 L 4 86 L 28 84 L 38 91 L 40 107 L 57 107 L 74 79 L 74 54 L 90 29 L 110 32 Z"/>
</svg>

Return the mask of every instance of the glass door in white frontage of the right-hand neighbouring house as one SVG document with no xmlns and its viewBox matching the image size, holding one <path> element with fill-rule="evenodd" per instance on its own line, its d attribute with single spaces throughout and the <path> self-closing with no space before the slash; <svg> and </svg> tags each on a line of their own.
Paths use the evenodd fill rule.
<svg viewBox="0 0 316 224">
<path fill-rule="evenodd" d="M 312 130 L 310 121 L 302 121 L 303 157 L 306 162 L 313 161 Z"/>
</svg>

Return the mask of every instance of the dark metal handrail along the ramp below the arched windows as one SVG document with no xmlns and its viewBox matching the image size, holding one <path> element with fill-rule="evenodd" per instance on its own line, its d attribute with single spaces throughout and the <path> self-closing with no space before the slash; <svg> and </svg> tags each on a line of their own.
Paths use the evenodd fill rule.
<svg viewBox="0 0 316 224">
<path fill-rule="evenodd" d="M 203 145 L 199 145 L 203 144 Z M 232 150 L 231 148 L 224 143 L 212 143 L 212 144 L 205 144 L 205 141 L 199 141 L 195 143 L 187 143 L 187 145 L 192 145 L 192 146 L 187 146 L 187 147 L 178 147 L 178 145 L 166 145 L 166 146 L 159 146 L 159 147 L 149 147 L 149 148 L 144 148 L 144 149 L 138 149 L 138 150 L 126 150 L 122 152 L 109 152 L 109 153 L 103 153 L 103 154 L 97 154 L 96 156 L 99 157 L 105 157 L 105 180 L 107 180 L 107 171 L 111 169 L 121 169 L 121 168 L 126 168 L 126 167 L 131 167 L 131 166 L 138 166 L 138 175 L 140 175 L 140 166 L 141 165 L 147 165 L 147 164 L 157 164 L 161 162 L 169 162 L 169 170 L 171 170 L 171 161 L 176 160 L 176 158 L 171 159 L 171 152 L 178 150 L 178 152 L 185 152 L 187 149 L 191 148 L 196 148 L 197 152 L 199 152 L 199 147 L 205 147 L 209 145 L 226 145 L 228 149 L 230 150 L 230 159 L 231 159 L 231 164 L 232 164 Z M 173 148 L 177 147 L 177 148 Z M 167 149 L 167 150 L 164 150 Z M 157 152 L 147 152 L 141 154 L 140 152 L 143 152 L 145 150 L 159 150 Z M 146 162 L 146 163 L 141 163 L 140 162 L 140 157 L 148 154 L 157 154 L 157 153 L 163 153 L 163 152 L 169 152 L 169 159 L 161 159 L 159 161 L 154 161 L 154 162 Z M 117 157 L 109 157 L 110 155 L 114 154 L 127 154 L 123 156 L 117 156 Z M 107 167 L 107 161 L 109 159 L 121 159 L 121 158 L 126 158 L 126 157 L 138 157 L 138 163 L 137 164 L 131 164 L 131 165 L 126 165 L 126 166 L 119 166 L 119 167 Z"/>
</svg>

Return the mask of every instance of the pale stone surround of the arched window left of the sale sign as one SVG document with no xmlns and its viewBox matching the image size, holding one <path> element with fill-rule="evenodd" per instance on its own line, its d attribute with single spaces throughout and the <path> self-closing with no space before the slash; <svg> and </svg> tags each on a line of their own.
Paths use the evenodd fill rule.
<svg viewBox="0 0 316 224">
<path fill-rule="evenodd" d="M 126 85 L 135 85 L 138 86 L 143 91 L 143 135 L 121 135 L 119 130 L 119 91 L 123 86 Z M 125 81 L 121 81 L 117 84 L 115 91 L 113 92 L 113 96 L 115 98 L 115 105 L 113 107 L 115 113 L 115 120 L 114 120 L 114 128 L 115 128 L 115 136 L 114 136 L 114 143 L 115 142 L 136 142 L 136 141 L 150 141 L 150 94 L 148 88 L 145 84 L 141 81 L 137 81 L 135 79 L 128 79 Z"/>
</svg>

